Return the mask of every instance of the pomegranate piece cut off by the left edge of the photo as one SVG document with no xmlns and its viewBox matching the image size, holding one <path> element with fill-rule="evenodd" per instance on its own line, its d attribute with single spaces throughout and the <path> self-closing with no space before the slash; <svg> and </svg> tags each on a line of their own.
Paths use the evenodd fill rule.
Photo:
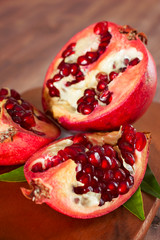
<svg viewBox="0 0 160 240">
<path fill-rule="evenodd" d="M 59 128 L 18 92 L 0 89 L 0 165 L 24 163 L 59 135 Z"/>
</svg>

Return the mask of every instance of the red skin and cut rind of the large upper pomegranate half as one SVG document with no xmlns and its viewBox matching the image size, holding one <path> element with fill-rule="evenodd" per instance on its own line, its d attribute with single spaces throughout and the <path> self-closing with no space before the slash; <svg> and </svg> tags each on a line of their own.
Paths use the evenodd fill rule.
<svg viewBox="0 0 160 240">
<path fill-rule="evenodd" d="M 49 66 L 42 94 L 42 104 L 46 112 L 52 113 L 54 108 L 52 98 L 48 94 L 46 83 L 48 79 L 53 76 L 57 60 L 62 59 L 62 52 L 70 43 L 76 43 L 86 35 L 92 34 L 95 26 L 96 24 L 93 24 L 72 37 Z M 113 84 L 110 86 L 110 90 L 113 92 L 112 101 L 105 107 L 98 105 L 94 111 L 88 115 L 77 114 L 77 112 L 71 113 L 65 106 L 62 109 L 59 107 L 59 110 L 53 113 L 53 117 L 64 128 L 78 131 L 118 129 L 123 123 L 133 123 L 136 121 L 150 106 L 157 85 L 155 62 L 138 36 L 133 40 L 128 40 L 126 34 L 119 32 L 119 28 L 120 26 L 117 24 L 108 22 L 108 29 L 112 38 L 106 51 L 98 60 L 87 66 L 88 72 L 97 69 L 99 63 L 111 53 L 118 53 L 122 49 L 133 47 L 143 54 L 143 58 L 136 66 L 127 68 L 126 71 L 119 74 L 116 81 L 112 81 Z M 125 81 L 126 84 L 123 85 Z M 127 88 L 128 90 L 124 91 L 124 89 Z"/>
</svg>

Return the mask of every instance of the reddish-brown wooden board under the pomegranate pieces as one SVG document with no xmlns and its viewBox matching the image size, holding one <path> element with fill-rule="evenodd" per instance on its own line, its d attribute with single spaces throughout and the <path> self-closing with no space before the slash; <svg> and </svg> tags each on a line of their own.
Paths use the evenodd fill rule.
<svg viewBox="0 0 160 240">
<path fill-rule="evenodd" d="M 40 106 L 40 88 L 23 96 Z M 139 131 L 150 131 L 152 142 L 149 164 L 160 182 L 160 104 L 152 103 L 134 124 Z M 5 169 L 0 168 L 1 172 Z M 160 200 L 143 194 L 146 220 L 140 221 L 124 207 L 95 219 L 73 219 L 47 205 L 27 200 L 20 187 L 27 183 L 0 182 L 0 240 L 139 240 L 145 236 L 160 206 Z"/>
</svg>

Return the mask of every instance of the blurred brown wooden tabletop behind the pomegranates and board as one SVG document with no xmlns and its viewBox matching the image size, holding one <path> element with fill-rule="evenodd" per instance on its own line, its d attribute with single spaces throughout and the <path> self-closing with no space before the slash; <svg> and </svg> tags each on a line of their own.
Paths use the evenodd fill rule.
<svg viewBox="0 0 160 240">
<path fill-rule="evenodd" d="M 159 0 L 0 0 L 0 87 L 21 93 L 41 87 L 50 62 L 64 43 L 101 20 L 145 32 L 158 72 L 154 101 L 160 102 Z M 157 213 L 145 240 L 159 239 L 159 216 Z"/>
</svg>

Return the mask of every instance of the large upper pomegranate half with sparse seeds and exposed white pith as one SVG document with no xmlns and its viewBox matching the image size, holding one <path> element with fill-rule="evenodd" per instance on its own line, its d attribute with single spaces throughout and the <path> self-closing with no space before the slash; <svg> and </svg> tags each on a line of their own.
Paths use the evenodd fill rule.
<svg viewBox="0 0 160 240">
<path fill-rule="evenodd" d="M 147 38 L 129 26 L 93 24 L 69 40 L 43 85 L 45 112 L 71 130 L 115 130 L 139 118 L 156 90 Z"/>
</svg>

